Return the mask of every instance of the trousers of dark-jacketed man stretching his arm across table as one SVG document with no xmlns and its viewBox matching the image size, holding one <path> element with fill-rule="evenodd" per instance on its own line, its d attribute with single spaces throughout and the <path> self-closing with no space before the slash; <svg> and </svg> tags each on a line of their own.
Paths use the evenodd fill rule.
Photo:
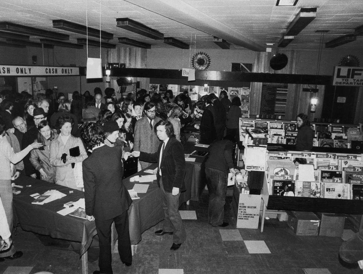
<svg viewBox="0 0 363 274">
<path fill-rule="evenodd" d="M 173 242 L 183 243 L 185 242 L 186 233 L 179 213 L 180 192 L 175 196 L 171 192 L 166 192 L 161 178 L 160 189 L 165 215 L 163 231 L 174 232 Z"/>
</svg>

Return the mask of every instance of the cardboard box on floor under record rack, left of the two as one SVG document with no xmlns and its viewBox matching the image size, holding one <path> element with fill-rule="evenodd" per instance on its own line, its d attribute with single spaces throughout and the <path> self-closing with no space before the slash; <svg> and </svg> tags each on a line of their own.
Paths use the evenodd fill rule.
<svg viewBox="0 0 363 274">
<path fill-rule="evenodd" d="M 320 219 L 312 212 L 286 211 L 289 216 L 287 225 L 298 236 L 317 236 Z"/>
</svg>

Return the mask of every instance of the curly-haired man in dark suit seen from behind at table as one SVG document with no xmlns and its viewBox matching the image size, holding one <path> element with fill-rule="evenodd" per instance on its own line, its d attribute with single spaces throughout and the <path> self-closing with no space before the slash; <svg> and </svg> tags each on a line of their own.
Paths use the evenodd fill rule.
<svg viewBox="0 0 363 274">
<path fill-rule="evenodd" d="M 118 125 L 115 122 L 118 130 Z M 86 217 L 95 220 L 99 237 L 99 270 L 93 273 L 112 274 L 111 267 L 111 225 L 115 222 L 118 234 L 118 252 L 122 263 L 132 263 L 131 242 L 129 233 L 129 216 L 127 210 L 131 198 L 122 183 L 122 162 L 130 153 L 122 158 L 121 146 L 110 147 L 103 143 L 102 128 L 89 123 L 85 129 L 85 142 L 92 147 L 91 156 L 82 162 L 83 184 L 85 188 Z"/>
</svg>

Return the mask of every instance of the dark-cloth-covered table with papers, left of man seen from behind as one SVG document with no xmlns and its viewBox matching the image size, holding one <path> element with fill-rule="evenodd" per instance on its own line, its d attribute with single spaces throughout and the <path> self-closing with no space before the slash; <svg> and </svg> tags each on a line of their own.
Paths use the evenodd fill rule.
<svg viewBox="0 0 363 274">
<path fill-rule="evenodd" d="M 14 225 L 20 224 L 25 231 L 49 235 L 53 238 L 79 242 L 79 254 L 82 258 L 82 273 L 88 273 L 87 250 L 93 237 L 97 234 L 94 222 L 74 216 L 62 216 L 57 211 L 63 209 L 63 205 L 70 201 L 78 201 L 84 198 L 84 193 L 76 189 L 37 180 L 31 177 L 20 176 L 13 181 L 24 188 L 20 194 L 13 195 Z M 55 189 L 67 196 L 49 202 L 44 205 L 34 205 L 30 195 L 43 194 L 47 190 Z M 73 193 L 70 193 L 72 192 Z"/>
</svg>

